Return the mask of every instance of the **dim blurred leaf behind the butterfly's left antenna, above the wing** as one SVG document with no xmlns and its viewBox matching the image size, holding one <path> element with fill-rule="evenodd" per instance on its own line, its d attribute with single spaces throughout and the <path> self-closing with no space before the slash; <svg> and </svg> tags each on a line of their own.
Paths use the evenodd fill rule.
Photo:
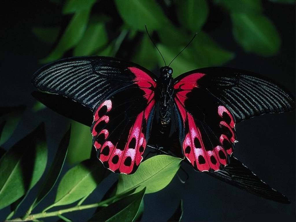
<svg viewBox="0 0 296 222">
<path fill-rule="evenodd" d="M 132 61 L 151 70 L 157 66 L 156 53 L 158 52 L 153 46 L 153 43 L 149 39 L 148 35 L 144 35 L 139 47 L 137 47 L 136 54 L 134 55 Z"/>
</svg>

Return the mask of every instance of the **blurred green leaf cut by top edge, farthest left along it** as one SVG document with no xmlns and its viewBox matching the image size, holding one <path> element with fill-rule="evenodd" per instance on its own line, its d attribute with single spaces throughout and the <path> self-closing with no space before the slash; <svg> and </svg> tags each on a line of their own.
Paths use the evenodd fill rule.
<svg viewBox="0 0 296 222">
<path fill-rule="evenodd" d="M 96 0 L 67 0 L 63 7 L 63 14 L 88 10 L 95 2 Z"/>
</svg>

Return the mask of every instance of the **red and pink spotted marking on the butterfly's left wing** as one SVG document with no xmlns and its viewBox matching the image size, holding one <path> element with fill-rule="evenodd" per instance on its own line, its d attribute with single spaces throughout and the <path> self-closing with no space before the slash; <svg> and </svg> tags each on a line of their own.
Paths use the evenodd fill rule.
<svg viewBox="0 0 296 222">
<path fill-rule="evenodd" d="M 147 107 L 136 116 L 134 123 L 129 129 L 124 148 L 120 149 L 117 147 L 119 141 L 114 143 L 108 141 L 107 138 L 110 132 L 107 129 L 102 129 L 99 133 L 96 131 L 96 126 L 99 123 L 104 121 L 104 124 L 107 124 L 109 122 L 110 116 L 108 112 L 112 109 L 112 101 L 110 99 L 104 101 L 94 112 L 94 123 L 91 129 L 93 137 L 104 136 L 102 138 L 103 141 L 100 140 L 102 144 L 94 140 L 94 147 L 99 152 L 99 160 L 106 168 L 113 172 L 125 174 L 132 173 L 133 169 L 138 167 L 143 160 L 142 155 L 147 145 L 146 126 L 150 112 L 155 105 L 154 89 L 156 87 L 155 81 L 147 73 L 136 67 L 128 67 L 128 69 L 136 76 L 133 82 L 144 91 Z"/>
</svg>

